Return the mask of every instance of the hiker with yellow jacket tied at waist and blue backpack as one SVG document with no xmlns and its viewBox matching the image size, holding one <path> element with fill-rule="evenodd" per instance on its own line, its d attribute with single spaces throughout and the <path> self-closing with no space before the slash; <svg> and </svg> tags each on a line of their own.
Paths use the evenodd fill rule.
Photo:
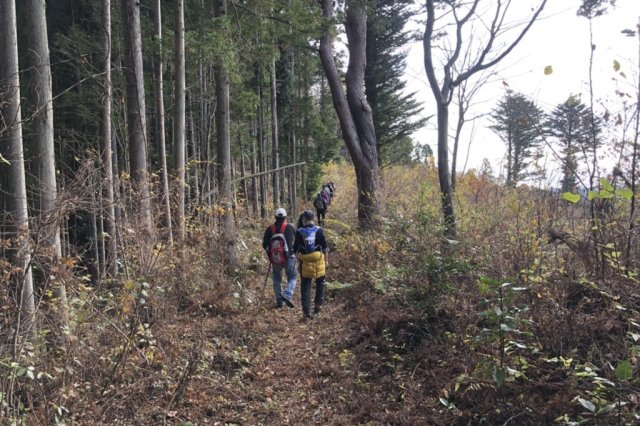
<svg viewBox="0 0 640 426">
<path fill-rule="evenodd" d="M 306 210 L 302 213 L 304 226 L 296 232 L 293 250 L 302 261 L 300 275 L 302 276 L 302 313 L 304 319 L 313 319 L 322 309 L 324 302 L 324 286 L 326 268 L 329 266 L 327 239 L 324 230 L 313 223 L 313 212 Z M 311 313 L 311 283 L 316 280 L 315 308 Z"/>
</svg>

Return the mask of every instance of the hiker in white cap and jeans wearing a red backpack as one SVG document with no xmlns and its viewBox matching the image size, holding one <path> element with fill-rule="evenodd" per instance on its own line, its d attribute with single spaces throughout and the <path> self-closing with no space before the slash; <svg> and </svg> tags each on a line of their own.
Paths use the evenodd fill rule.
<svg viewBox="0 0 640 426">
<path fill-rule="evenodd" d="M 267 251 L 269 262 L 273 265 L 273 291 L 276 296 L 276 308 L 286 303 L 293 308 L 293 292 L 296 289 L 298 271 L 296 270 L 296 252 L 293 250 L 296 228 L 286 222 L 287 211 L 276 210 L 276 221 L 267 227 L 262 238 L 262 247 Z M 287 289 L 283 292 L 282 270 L 287 273 Z"/>
</svg>

